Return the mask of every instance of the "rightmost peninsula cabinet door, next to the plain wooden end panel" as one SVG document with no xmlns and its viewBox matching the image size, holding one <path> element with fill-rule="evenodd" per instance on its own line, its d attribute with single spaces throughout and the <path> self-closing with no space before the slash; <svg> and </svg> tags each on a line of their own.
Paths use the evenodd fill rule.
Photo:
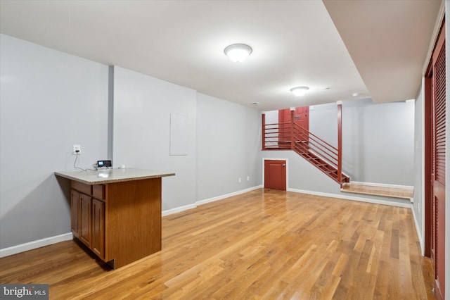
<svg viewBox="0 0 450 300">
<path fill-rule="evenodd" d="M 92 200 L 92 242 L 91 249 L 101 259 L 105 258 L 105 203 Z"/>
</svg>

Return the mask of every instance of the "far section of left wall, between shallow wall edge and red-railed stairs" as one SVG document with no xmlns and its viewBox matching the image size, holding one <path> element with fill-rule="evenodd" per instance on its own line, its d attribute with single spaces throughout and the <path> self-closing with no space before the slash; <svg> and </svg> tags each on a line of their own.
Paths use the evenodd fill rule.
<svg viewBox="0 0 450 300">
<path fill-rule="evenodd" d="M 261 123 L 253 108 L 198 94 L 199 201 L 261 185 Z"/>
</svg>

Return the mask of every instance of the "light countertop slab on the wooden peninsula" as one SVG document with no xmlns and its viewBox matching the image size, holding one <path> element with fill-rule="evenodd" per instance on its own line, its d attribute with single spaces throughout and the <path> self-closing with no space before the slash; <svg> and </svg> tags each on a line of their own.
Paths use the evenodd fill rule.
<svg viewBox="0 0 450 300">
<path fill-rule="evenodd" d="M 165 173 L 154 170 L 135 168 L 109 169 L 109 170 L 75 170 L 55 172 L 55 175 L 70 180 L 85 183 L 86 185 L 100 185 L 112 182 L 143 180 L 149 178 L 174 176 L 175 173 Z"/>
</svg>

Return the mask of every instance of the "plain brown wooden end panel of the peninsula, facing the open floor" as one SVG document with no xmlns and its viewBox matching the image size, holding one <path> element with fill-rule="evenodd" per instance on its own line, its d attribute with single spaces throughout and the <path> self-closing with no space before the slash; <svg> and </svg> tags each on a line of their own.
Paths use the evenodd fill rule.
<svg viewBox="0 0 450 300">
<path fill-rule="evenodd" d="M 105 261 L 115 268 L 161 250 L 161 178 L 106 185 Z"/>
</svg>

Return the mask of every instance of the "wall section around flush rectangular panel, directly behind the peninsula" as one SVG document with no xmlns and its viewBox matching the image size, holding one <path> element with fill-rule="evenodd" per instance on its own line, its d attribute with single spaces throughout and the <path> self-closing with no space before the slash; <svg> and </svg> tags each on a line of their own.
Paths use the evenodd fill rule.
<svg viewBox="0 0 450 300">
<path fill-rule="evenodd" d="M 113 165 L 176 173 L 162 178 L 162 210 L 195 203 L 196 92 L 114 68 Z M 169 155 L 170 115 L 187 118 L 186 155 Z"/>
</svg>

